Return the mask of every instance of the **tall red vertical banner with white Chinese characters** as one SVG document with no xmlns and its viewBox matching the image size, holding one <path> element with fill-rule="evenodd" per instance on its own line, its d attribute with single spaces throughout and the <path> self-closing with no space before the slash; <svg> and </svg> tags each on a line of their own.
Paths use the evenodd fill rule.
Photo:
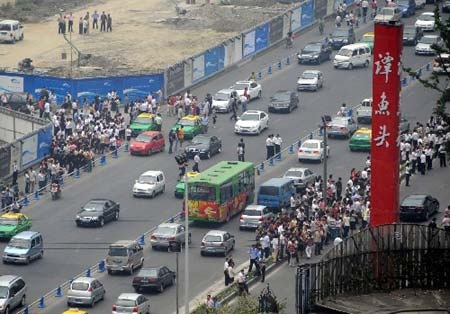
<svg viewBox="0 0 450 314">
<path fill-rule="evenodd" d="M 399 122 L 403 24 L 375 23 L 370 225 L 399 220 Z"/>
</svg>

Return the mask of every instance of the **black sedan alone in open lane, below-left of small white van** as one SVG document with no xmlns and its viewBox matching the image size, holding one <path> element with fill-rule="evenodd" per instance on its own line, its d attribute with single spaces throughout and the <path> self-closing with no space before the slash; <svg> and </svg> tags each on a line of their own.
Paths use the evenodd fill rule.
<svg viewBox="0 0 450 314">
<path fill-rule="evenodd" d="M 107 199 L 92 199 L 77 214 L 75 222 L 81 226 L 100 226 L 105 222 L 118 220 L 120 204 Z"/>
</svg>

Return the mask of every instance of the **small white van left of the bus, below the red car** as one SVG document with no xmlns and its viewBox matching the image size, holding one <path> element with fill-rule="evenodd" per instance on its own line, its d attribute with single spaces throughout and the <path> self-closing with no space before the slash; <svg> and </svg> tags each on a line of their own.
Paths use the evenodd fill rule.
<svg viewBox="0 0 450 314">
<path fill-rule="evenodd" d="M 166 179 L 164 173 L 159 170 L 146 171 L 139 176 L 133 186 L 133 196 L 155 197 L 158 193 L 164 193 Z"/>
</svg>

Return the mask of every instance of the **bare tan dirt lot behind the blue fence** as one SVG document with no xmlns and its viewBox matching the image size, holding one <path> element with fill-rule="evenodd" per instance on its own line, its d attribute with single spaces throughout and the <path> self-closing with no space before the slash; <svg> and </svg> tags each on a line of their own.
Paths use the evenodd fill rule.
<svg viewBox="0 0 450 314">
<path fill-rule="evenodd" d="M 80 68 L 74 67 L 74 76 L 164 69 L 289 8 L 276 0 L 211 0 L 211 4 L 197 0 L 195 5 L 187 5 L 184 0 L 95 0 L 90 4 L 89 0 L 18 1 L 31 4 L 27 3 L 27 10 L 0 9 L 0 20 L 21 15 L 21 20 L 31 22 L 25 22 L 23 42 L 0 46 L 0 67 L 13 69 L 20 60 L 30 57 L 39 70 L 68 75 L 71 49 L 58 35 L 56 19 L 60 11 L 73 10 L 71 40 L 87 56 Z M 91 30 L 89 35 L 78 35 L 78 19 L 94 10 L 111 13 L 113 32 Z M 62 59 L 63 54 L 67 55 L 66 60 Z M 73 52 L 73 60 L 76 59 Z"/>
</svg>

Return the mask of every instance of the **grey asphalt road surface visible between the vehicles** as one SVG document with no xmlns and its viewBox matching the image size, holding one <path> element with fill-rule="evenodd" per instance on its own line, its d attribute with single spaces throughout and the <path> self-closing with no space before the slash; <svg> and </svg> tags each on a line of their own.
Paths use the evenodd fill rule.
<svg viewBox="0 0 450 314">
<path fill-rule="evenodd" d="M 411 22 L 411 19 L 407 19 Z M 330 27 L 328 27 L 330 28 Z M 357 30 L 358 37 L 370 30 L 370 25 L 365 25 Z M 318 39 L 317 29 L 307 32 L 297 39 L 296 44 L 302 47 L 302 43 Z M 255 59 L 241 67 L 238 67 L 224 75 L 211 79 L 206 85 L 194 89 L 194 95 L 203 97 L 206 92 L 215 92 L 221 88 L 232 85 L 239 79 L 248 77 L 249 73 L 257 69 L 266 68 L 274 60 L 278 60 L 293 51 L 280 47 L 269 51 L 264 56 Z M 416 57 L 413 48 L 406 48 L 403 54 L 404 62 L 412 67 L 429 62 L 430 58 Z M 295 88 L 297 77 L 308 66 L 292 65 L 281 72 L 272 74 L 262 81 L 263 98 L 252 102 L 249 108 L 267 109 L 267 101 L 277 89 Z M 270 129 L 257 137 L 245 137 L 246 158 L 255 162 L 261 161 L 265 154 L 264 141 L 268 134 L 279 133 L 285 143 L 293 142 L 297 137 L 305 135 L 307 131 L 317 127 L 320 116 L 334 114 L 342 102 L 348 105 L 356 105 L 362 98 L 371 94 L 371 71 L 368 69 L 355 69 L 353 71 L 334 70 L 332 64 L 327 62 L 320 66 L 314 66 L 323 71 L 325 86 L 318 93 L 302 93 L 300 95 L 300 108 L 290 115 L 271 114 Z M 404 115 L 411 120 L 425 121 L 431 113 L 433 92 L 420 86 L 408 87 L 402 95 L 402 110 Z M 163 130 L 168 131 L 173 119 L 166 119 Z M 217 128 L 211 129 L 211 134 L 218 134 L 224 143 L 224 150 L 220 156 L 200 163 L 200 170 L 205 169 L 218 160 L 236 159 L 235 147 L 239 137 L 233 133 L 227 115 L 220 115 Z M 346 178 L 349 170 L 362 165 L 367 154 L 350 153 L 347 141 L 331 140 L 331 157 L 329 159 L 329 173 L 335 177 Z M 280 176 L 290 166 L 298 165 L 295 159 L 288 160 L 264 172 L 258 178 L 262 180 L 274 176 Z M 309 165 L 316 172 L 321 171 L 317 164 Z M 156 199 L 135 199 L 131 196 L 131 187 L 138 175 L 145 170 L 163 170 L 168 178 L 166 193 Z M 137 238 L 144 231 L 157 225 L 163 219 L 180 211 L 181 202 L 174 199 L 171 187 L 174 187 L 177 179 L 177 169 L 173 155 L 156 154 L 151 157 L 126 157 L 115 161 L 114 165 L 103 168 L 94 177 L 82 177 L 76 184 L 63 191 L 60 201 L 52 202 L 43 200 L 34 207 L 29 207 L 25 212 L 33 219 L 33 229 L 43 233 L 46 246 L 45 257 L 29 266 L 2 265 L 0 273 L 19 274 L 29 283 L 29 301 L 39 298 L 58 284 L 70 279 L 75 274 L 82 272 L 86 267 L 98 263 L 105 257 L 109 243 L 120 239 Z M 76 212 L 88 199 L 106 197 L 121 203 L 121 218 L 118 222 L 105 225 L 101 229 L 80 229 L 75 226 Z M 251 232 L 239 232 L 238 220 L 234 219 L 221 228 L 230 230 L 236 235 L 237 245 L 233 257 L 237 264 L 247 259 L 247 248 L 254 239 Z M 198 244 L 206 228 L 194 227 L 192 229 L 193 244 L 190 251 L 190 277 L 195 278 L 190 283 L 190 297 L 202 292 L 213 282 L 222 277 L 222 258 L 200 257 Z M 2 245 L 3 248 L 4 245 Z M 153 252 L 146 248 L 145 264 L 166 264 L 171 268 L 175 265 L 175 255 L 165 252 Z M 183 265 L 183 259 L 180 259 Z M 183 278 L 183 270 L 180 272 Z M 89 313 L 107 313 L 121 292 L 132 291 L 131 277 L 128 276 L 100 276 L 100 280 L 106 286 L 107 296 L 105 301 L 98 304 Z M 180 291 L 183 291 L 180 285 Z M 152 313 L 171 313 L 175 311 L 175 288 L 168 288 L 163 294 L 150 294 L 152 300 Z M 64 300 L 64 299 L 62 299 Z M 180 302 L 183 302 L 181 296 Z M 64 302 L 51 306 L 45 313 L 61 313 L 65 308 Z"/>
</svg>

